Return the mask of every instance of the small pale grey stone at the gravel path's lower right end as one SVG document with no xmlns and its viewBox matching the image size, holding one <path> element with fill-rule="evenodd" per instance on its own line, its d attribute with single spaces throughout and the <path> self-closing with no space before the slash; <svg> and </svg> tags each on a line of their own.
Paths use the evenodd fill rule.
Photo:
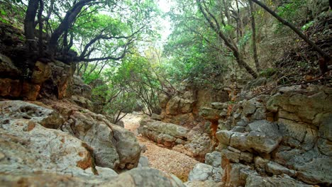
<svg viewBox="0 0 332 187">
<path fill-rule="evenodd" d="M 212 179 L 213 167 L 208 164 L 196 164 L 188 176 L 188 181 L 206 181 Z"/>
</svg>

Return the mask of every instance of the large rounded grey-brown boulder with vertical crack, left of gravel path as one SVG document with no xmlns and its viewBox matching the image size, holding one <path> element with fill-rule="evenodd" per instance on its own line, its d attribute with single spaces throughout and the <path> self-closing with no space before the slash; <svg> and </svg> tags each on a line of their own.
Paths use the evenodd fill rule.
<svg viewBox="0 0 332 187">
<path fill-rule="evenodd" d="M 94 149 L 97 166 L 132 169 L 138 165 L 140 145 L 133 132 L 110 123 L 104 115 L 76 111 L 65 128 Z"/>
</svg>

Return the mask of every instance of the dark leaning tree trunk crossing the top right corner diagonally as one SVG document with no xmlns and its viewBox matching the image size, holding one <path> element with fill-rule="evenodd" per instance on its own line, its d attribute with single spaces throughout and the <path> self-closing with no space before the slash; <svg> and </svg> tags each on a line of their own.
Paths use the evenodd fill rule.
<svg viewBox="0 0 332 187">
<path fill-rule="evenodd" d="M 294 31 L 294 33 L 297 33 L 297 35 L 299 35 L 300 38 L 302 38 L 307 44 L 309 44 L 311 47 L 313 47 L 314 50 L 316 50 L 316 52 L 318 52 L 319 55 L 321 55 L 325 59 L 323 64 L 321 64 L 321 66 L 320 66 L 321 67 L 321 73 L 322 74 L 325 73 L 324 69 L 327 69 L 326 62 L 331 60 L 331 57 L 326 52 L 321 50 L 320 47 L 318 47 L 313 41 L 311 41 L 309 38 L 307 38 L 306 35 L 304 35 L 301 32 L 301 30 L 297 29 L 294 25 L 292 25 L 292 23 L 289 23 L 288 21 L 285 21 L 282 17 L 278 16 L 277 13 L 275 13 L 275 11 L 272 11 L 270 8 L 265 6 L 265 4 L 262 4 L 258 0 L 250 0 L 250 1 L 253 1 L 255 4 L 258 4 L 260 7 L 264 8 L 265 11 L 270 13 L 273 17 L 277 18 L 277 20 L 280 21 L 285 26 L 288 26 L 289 28 L 291 28 Z"/>
</svg>

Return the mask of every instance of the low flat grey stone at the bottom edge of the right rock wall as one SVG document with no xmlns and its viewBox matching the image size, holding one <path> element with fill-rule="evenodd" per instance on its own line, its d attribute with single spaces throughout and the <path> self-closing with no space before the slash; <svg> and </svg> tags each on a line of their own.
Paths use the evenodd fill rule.
<svg viewBox="0 0 332 187">
<path fill-rule="evenodd" d="M 300 181 L 296 181 L 291 177 L 284 175 L 280 176 L 272 176 L 272 177 L 262 177 L 257 174 L 250 174 L 246 180 L 245 186 L 248 187 L 274 187 L 274 186 L 296 186 L 296 187 L 304 187 L 311 186 L 305 183 L 301 183 Z"/>
</svg>

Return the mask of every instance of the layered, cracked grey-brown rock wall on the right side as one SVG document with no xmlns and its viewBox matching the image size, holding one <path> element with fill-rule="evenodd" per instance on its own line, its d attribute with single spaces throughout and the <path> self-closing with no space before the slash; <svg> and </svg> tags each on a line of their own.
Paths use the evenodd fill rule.
<svg viewBox="0 0 332 187">
<path fill-rule="evenodd" d="M 206 177 L 194 177 L 194 169 L 189 179 L 222 186 L 332 185 L 331 88 L 282 87 L 231 108 L 219 117 L 218 147 L 206 154 L 206 172 L 199 175 Z M 215 168 L 221 169 L 218 179 Z"/>
</svg>

